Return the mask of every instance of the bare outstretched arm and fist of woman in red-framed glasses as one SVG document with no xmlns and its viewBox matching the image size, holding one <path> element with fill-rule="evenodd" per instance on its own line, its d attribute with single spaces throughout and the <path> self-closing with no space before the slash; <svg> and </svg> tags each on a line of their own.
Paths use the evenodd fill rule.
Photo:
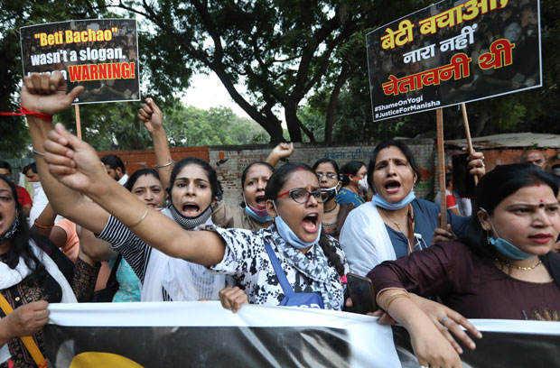
<svg viewBox="0 0 560 368">
<path fill-rule="evenodd" d="M 107 176 L 88 143 L 56 124 L 45 142 L 49 170 L 64 185 L 86 194 L 147 244 L 175 258 L 202 265 L 221 261 L 225 244 L 207 231 L 185 231 L 171 218 L 147 207 Z"/>
</svg>

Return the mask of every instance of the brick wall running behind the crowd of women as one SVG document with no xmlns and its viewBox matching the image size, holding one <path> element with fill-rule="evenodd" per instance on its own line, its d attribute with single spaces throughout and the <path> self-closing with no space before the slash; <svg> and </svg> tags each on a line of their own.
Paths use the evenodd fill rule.
<svg viewBox="0 0 560 368">
<path fill-rule="evenodd" d="M 415 156 L 422 181 L 415 187 L 418 197 L 432 199 L 434 193 L 439 189 L 437 183 L 437 147 L 432 139 L 408 139 L 405 140 Z M 204 161 L 209 161 L 218 173 L 218 178 L 224 189 L 224 198 L 232 203 L 241 201 L 241 172 L 254 161 L 265 161 L 268 153 L 274 146 L 268 144 L 242 145 L 242 146 L 213 146 L 213 147 L 190 147 L 173 148 L 173 160 L 178 161 L 183 157 L 195 156 Z M 363 161 L 366 165 L 369 156 L 375 149 L 374 144 L 364 145 L 333 145 L 324 146 L 312 143 L 294 143 L 294 154 L 289 158 L 292 162 L 303 162 L 308 165 L 323 157 L 336 160 L 340 166 L 351 160 Z M 450 149 L 446 153 L 446 163 L 451 161 L 451 154 L 458 152 Z M 492 170 L 496 165 L 518 162 L 522 149 L 492 148 L 483 150 L 486 169 Z M 560 149 L 543 150 L 549 167 L 560 163 Z M 98 152 L 99 157 L 114 153 L 125 162 L 129 173 L 140 168 L 154 167 L 154 150 L 145 151 L 111 151 Z M 278 165 L 282 165 L 280 161 Z"/>
</svg>

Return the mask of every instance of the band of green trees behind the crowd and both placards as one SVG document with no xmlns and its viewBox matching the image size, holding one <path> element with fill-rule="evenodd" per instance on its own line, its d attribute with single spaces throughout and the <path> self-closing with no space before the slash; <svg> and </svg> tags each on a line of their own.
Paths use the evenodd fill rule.
<svg viewBox="0 0 560 368">
<path fill-rule="evenodd" d="M 139 22 L 144 95 L 149 93 L 161 101 L 166 114 L 177 115 L 177 119 L 166 120 L 173 144 L 182 144 L 185 139 L 190 145 L 247 143 L 247 137 L 250 142 L 263 142 L 267 135 L 273 142 L 327 143 L 415 136 L 434 130 L 434 112 L 372 122 L 365 34 L 430 4 L 425 0 L 4 1 L 0 2 L 0 109 L 17 108 L 22 78 L 17 30 L 21 26 L 126 15 Z M 114 14 L 117 11 L 120 13 Z M 559 3 L 543 0 L 540 14 L 544 87 L 469 104 L 473 136 L 560 133 Z M 256 131 L 254 127 L 234 133 L 233 118 L 221 109 L 196 112 L 179 106 L 174 95 L 189 86 L 193 71 L 216 73 L 230 97 L 266 133 L 249 133 Z M 241 93 L 239 85 L 247 93 Z M 84 139 L 98 149 L 146 147 L 149 137 L 135 118 L 139 107 L 82 105 Z M 287 131 L 277 117 L 281 108 Z M 73 113 L 60 119 L 71 126 Z M 18 117 L 0 119 L 0 152 L 13 156 L 25 152 L 29 138 L 23 121 Z M 202 123 L 182 129 L 185 121 L 204 122 L 216 135 L 201 132 L 198 127 Z M 210 121 L 226 121 L 227 133 Z M 444 124 L 446 138 L 462 136 L 458 110 L 445 108 Z M 241 138 L 242 133 L 248 135 Z M 236 134 L 239 138 L 234 138 Z"/>
</svg>

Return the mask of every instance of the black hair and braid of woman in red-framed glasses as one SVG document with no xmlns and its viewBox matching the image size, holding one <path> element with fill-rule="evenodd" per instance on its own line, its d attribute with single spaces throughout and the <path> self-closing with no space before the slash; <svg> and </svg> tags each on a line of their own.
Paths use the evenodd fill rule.
<svg viewBox="0 0 560 368">
<path fill-rule="evenodd" d="M 304 163 L 294 163 L 288 162 L 280 169 L 275 170 L 268 183 L 266 183 L 265 198 L 275 200 L 280 193 L 280 189 L 284 187 L 286 180 L 289 176 L 297 170 L 305 170 L 315 174 L 313 170 L 305 165 Z M 336 253 L 336 247 L 331 243 L 329 237 L 322 231 L 321 237 L 319 238 L 319 245 L 322 248 L 322 252 L 325 253 L 327 260 L 334 266 L 339 275 L 344 275 L 344 266 L 342 265 L 341 258 L 339 254 Z"/>
</svg>

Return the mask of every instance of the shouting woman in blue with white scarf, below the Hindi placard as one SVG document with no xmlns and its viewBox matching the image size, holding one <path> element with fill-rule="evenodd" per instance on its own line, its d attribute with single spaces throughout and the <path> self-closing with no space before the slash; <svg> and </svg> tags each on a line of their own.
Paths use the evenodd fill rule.
<svg viewBox="0 0 560 368">
<path fill-rule="evenodd" d="M 471 155 L 472 175 L 484 173 L 481 158 L 480 152 Z M 368 167 L 369 186 L 375 194 L 371 202 L 350 212 L 341 230 L 341 246 L 350 271 L 365 276 L 380 262 L 425 249 L 454 234 L 464 235 L 470 217 L 454 216 L 449 211 L 450 225 L 438 229 L 440 207 L 415 197 L 420 179 L 420 170 L 405 143 L 378 144 Z"/>
</svg>

